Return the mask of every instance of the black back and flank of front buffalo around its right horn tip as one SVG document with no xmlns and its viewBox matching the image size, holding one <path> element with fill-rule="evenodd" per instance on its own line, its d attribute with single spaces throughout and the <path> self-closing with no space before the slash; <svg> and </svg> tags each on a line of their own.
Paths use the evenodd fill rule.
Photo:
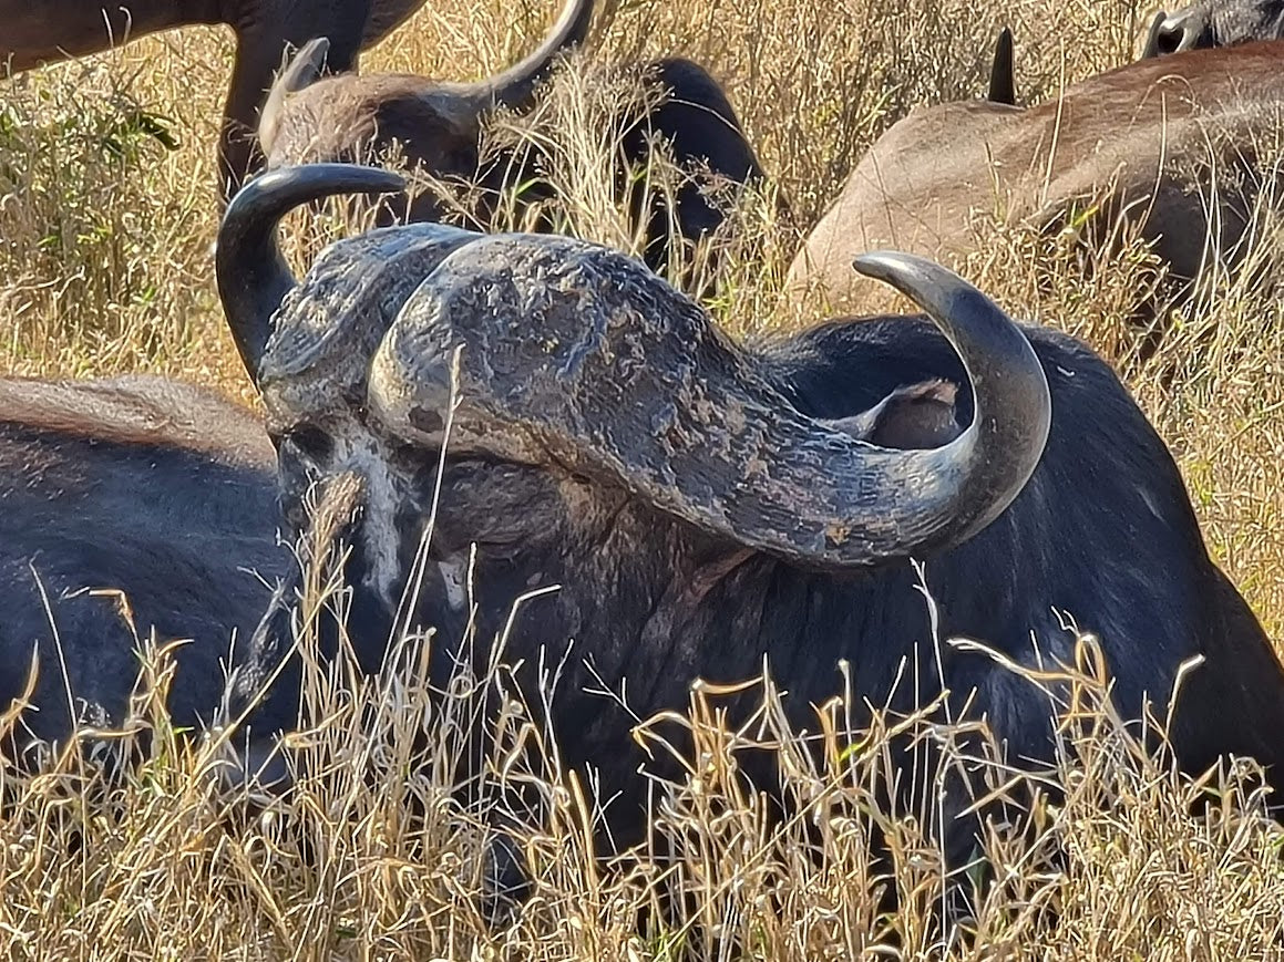
<svg viewBox="0 0 1284 962">
<path fill-rule="evenodd" d="M 928 561 L 942 636 L 982 639 L 1030 664 L 1034 631 L 1045 658 L 1064 659 L 1070 639 L 1053 608 L 1066 612 L 1102 639 L 1125 717 L 1140 714 L 1145 693 L 1165 704 L 1177 666 L 1202 654 L 1204 664 L 1184 680 L 1179 699 L 1180 763 L 1198 772 L 1219 753 L 1252 754 L 1279 784 L 1284 673 L 1251 609 L 1208 558 L 1163 441 L 1090 349 L 1045 328 L 1025 331 L 1048 375 L 1053 430 L 1012 507 L 969 543 Z M 862 408 L 898 384 L 960 384 L 963 373 L 919 321 L 826 325 L 769 348 L 768 364 L 802 409 L 826 416 Z M 959 395 L 963 423 L 969 400 Z M 883 572 L 865 590 L 882 593 L 903 575 Z M 862 620 L 865 637 L 887 649 L 853 645 L 845 657 L 855 677 L 862 668 L 865 677 L 885 676 L 889 650 L 926 631 L 913 605 Z M 882 608 L 853 611 L 860 607 Z M 909 629 L 915 622 L 917 632 Z M 901 644 L 889 644 L 892 637 Z M 950 661 L 948 686 L 962 693 L 976 685 L 989 695 L 991 722 L 1013 755 L 1046 758 L 1041 695 L 977 655 Z"/>
</svg>

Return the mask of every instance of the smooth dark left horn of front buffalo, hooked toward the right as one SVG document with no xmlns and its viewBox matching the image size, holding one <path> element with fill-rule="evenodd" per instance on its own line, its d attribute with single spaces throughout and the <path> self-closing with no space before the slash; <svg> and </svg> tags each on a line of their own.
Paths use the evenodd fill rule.
<svg viewBox="0 0 1284 962">
<path fill-rule="evenodd" d="M 214 276 L 236 350 L 256 382 L 272 314 L 294 287 L 294 274 L 276 242 L 281 218 L 335 194 L 389 194 L 404 187 L 406 181 L 390 171 L 309 164 L 270 171 L 232 198 L 218 228 Z"/>
</svg>

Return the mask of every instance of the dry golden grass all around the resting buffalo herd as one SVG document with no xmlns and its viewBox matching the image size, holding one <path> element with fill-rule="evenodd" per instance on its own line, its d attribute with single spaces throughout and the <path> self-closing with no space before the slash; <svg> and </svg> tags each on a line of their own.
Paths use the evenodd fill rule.
<svg viewBox="0 0 1284 962">
<path fill-rule="evenodd" d="M 1150 9 L 621 0 L 610 13 L 589 56 L 556 82 L 548 123 L 574 139 L 575 124 L 557 118 L 592 114 L 616 95 L 594 89 L 601 62 L 681 54 L 709 67 L 788 201 L 786 217 L 747 200 L 734 217 L 740 240 L 727 241 L 714 309 L 729 328 L 759 332 L 819 319 L 815 305 L 781 296 L 802 232 L 910 106 L 981 95 L 1000 26 L 1016 35 L 1018 97 L 1032 103 L 1135 56 Z M 553 15 L 533 0 L 430 0 L 362 68 L 482 76 L 529 49 Z M 153 371 L 254 403 L 212 278 L 214 142 L 231 53 L 230 35 L 193 28 L 0 80 L 0 372 Z M 568 230 L 627 241 L 603 191 L 579 186 Z M 1267 264 L 1278 215 L 1260 215 L 1256 255 Z M 291 224 L 300 262 L 318 237 L 344 230 L 339 218 Z M 1144 251 L 1125 250 L 1085 281 L 1055 245 L 995 228 L 985 255 L 962 267 L 1013 314 L 1075 332 L 1116 363 L 1172 449 L 1210 550 L 1267 632 L 1284 637 L 1284 309 L 1274 283 L 1210 283 L 1143 359 L 1124 316 L 1150 268 Z M 413 653 L 422 639 L 402 643 Z M 168 684 L 164 666 L 154 653 L 152 694 Z M 950 743 L 950 727 L 926 708 L 876 726 L 855 753 L 833 735 L 818 762 L 783 730 L 769 681 L 758 682 L 754 732 L 728 730 L 720 693 L 698 690 L 683 722 L 696 745 L 690 779 L 657 800 L 651 848 L 619 859 L 594 848 L 583 773 L 565 770 L 556 743 L 523 727 L 514 708 L 494 722 L 499 741 L 525 739 L 533 750 L 488 779 L 534 786 L 542 799 L 538 817 L 510 813 L 535 877 L 520 907 L 492 912 L 489 813 L 452 793 L 469 707 L 430 707 L 424 679 L 318 668 L 308 696 L 325 722 L 295 745 L 312 775 L 285 799 L 249 804 L 220 789 L 205 777 L 213 752 L 181 739 L 145 696 L 137 721 L 155 738 L 121 779 L 74 754 L 40 776 L 4 770 L 0 956 L 1284 958 L 1284 834 L 1262 814 L 1247 770 L 1201 785 L 1174 775 L 1113 713 L 1090 645 L 1068 671 L 1077 673 L 1059 729 L 1064 761 L 1040 776 L 1066 795 L 1053 802 L 1039 779 L 1026 780 L 1034 803 L 994 826 L 981 862 L 987 884 L 959 926 L 940 924 L 946 886 L 921 818 L 878 802 L 898 777 L 885 750 L 894 729 Z M 822 734 L 840 726 L 842 693 L 836 672 Z M 734 755 L 750 739 L 779 754 L 779 793 L 799 812 L 783 825 L 737 777 Z M 425 744 L 431 763 L 411 766 Z M 1022 781 L 996 762 L 987 779 L 995 793 Z M 1210 788 L 1215 811 L 1192 816 L 1190 799 Z M 886 835 L 890 863 L 874 861 L 871 825 Z M 899 897 L 895 913 L 880 908 L 885 889 Z"/>
</svg>

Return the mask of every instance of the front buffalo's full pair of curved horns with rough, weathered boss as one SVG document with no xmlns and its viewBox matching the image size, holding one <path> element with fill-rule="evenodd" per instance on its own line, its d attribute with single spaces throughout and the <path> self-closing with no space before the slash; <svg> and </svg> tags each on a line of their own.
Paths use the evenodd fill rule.
<svg viewBox="0 0 1284 962">
<path fill-rule="evenodd" d="M 505 475 L 593 478 L 715 537 L 822 567 L 967 539 L 1037 460 L 1046 387 L 1023 336 L 919 258 L 871 254 L 858 267 L 937 321 L 984 414 L 915 451 L 871 448 L 794 410 L 707 314 L 597 245 L 415 224 L 335 244 L 302 283 L 290 277 L 275 245 L 289 208 L 398 185 L 371 168 L 288 168 L 229 210 L 220 291 L 234 331 L 248 332 L 238 341 L 277 439 L 329 437 L 352 418 L 343 430 L 360 423 L 388 466 L 447 448 L 506 463 Z M 406 467 L 403 493 L 417 471 Z"/>
</svg>

